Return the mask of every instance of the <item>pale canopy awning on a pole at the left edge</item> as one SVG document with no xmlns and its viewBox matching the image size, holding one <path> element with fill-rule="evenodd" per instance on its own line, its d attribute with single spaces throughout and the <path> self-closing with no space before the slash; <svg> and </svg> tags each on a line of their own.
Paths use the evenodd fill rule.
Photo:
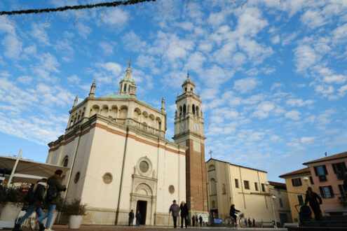
<svg viewBox="0 0 347 231">
<path fill-rule="evenodd" d="M 16 159 L 14 157 L 0 155 L 0 172 L 11 172 Z M 69 170 L 68 167 L 20 159 L 13 175 L 13 182 L 33 183 L 38 179 L 52 176 L 57 169 L 62 170 L 63 174 Z M 8 180 L 8 174 L 6 175 L 6 180 Z"/>
</svg>

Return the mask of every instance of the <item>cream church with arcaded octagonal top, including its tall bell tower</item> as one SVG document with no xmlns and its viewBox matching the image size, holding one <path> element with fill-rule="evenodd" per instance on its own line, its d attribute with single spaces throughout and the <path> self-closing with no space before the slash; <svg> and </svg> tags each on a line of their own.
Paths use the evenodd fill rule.
<svg viewBox="0 0 347 231">
<path fill-rule="evenodd" d="M 46 162 L 69 167 L 68 201 L 88 204 L 83 224 L 168 225 L 172 200 L 190 214 L 207 214 L 203 112 L 189 75 L 177 96 L 175 142 L 165 139 L 165 99 L 154 109 L 136 97 L 130 63 L 117 94 L 95 97 L 96 83 L 69 111 L 65 133 L 50 142 Z"/>
</svg>

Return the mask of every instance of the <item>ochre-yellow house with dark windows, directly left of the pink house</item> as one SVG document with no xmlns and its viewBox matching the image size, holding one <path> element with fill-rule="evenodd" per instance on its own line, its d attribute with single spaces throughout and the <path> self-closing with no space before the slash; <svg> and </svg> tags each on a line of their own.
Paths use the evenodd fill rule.
<svg viewBox="0 0 347 231">
<path fill-rule="evenodd" d="M 298 211 L 300 211 L 301 205 L 305 202 L 306 190 L 308 187 L 312 187 L 313 191 L 315 190 L 310 168 L 306 167 L 289 172 L 281 175 L 280 178 L 285 179 L 293 221 L 299 222 Z M 297 208 L 295 208 L 296 205 Z"/>
</svg>

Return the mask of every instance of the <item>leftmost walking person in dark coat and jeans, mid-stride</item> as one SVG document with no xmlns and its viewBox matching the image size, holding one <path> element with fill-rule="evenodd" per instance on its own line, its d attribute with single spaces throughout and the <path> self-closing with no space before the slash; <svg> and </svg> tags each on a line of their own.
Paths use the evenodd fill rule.
<svg viewBox="0 0 347 231">
<path fill-rule="evenodd" d="M 34 192 L 34 201 L 29 203 L 30 207 L 27 210 L 27 212 L 25 213 L 24 216 L 22 216 L 22 218 L 20 218 L 20 221 L 18 221 L 17 224 L 15 224 L 15 228 L 13 228 L 13 231 L 22 231 L 20 230 L 20 225 L 22 225 L 23 221 L 25 221 L 25 219 L 32 215 L 32 213 L 34 211 L 36 211 L 37 216 L 42 216 L 42 203 L 45 200 L 44 195 L 46 193 L 46 188 L 47 188 L 47 179 L 43 178 L 40 181 L 37 181 L 34 185 L 33 188 L 33 192 Z M 45 230 L 45 226 L 40 222 L 39 223 L 40 228 L 39 230 Z"/>
</svg>

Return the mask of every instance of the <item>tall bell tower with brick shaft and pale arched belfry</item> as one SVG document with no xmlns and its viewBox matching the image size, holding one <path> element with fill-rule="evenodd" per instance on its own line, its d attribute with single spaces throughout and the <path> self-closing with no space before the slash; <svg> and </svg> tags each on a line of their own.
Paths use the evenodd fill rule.
<svg viewBox="0 0 347 231">
<path fill-rule="evenodd" d="M 186 150 L 186 203 L 191 213 L 207 212 L 205 175 L 205 139 L 200 96 L 195 84 L 187 75 L 182 84 L 183 94 L 177 96 L 175 115 L 175 143 L 187 146 Z"/>
</svg>

